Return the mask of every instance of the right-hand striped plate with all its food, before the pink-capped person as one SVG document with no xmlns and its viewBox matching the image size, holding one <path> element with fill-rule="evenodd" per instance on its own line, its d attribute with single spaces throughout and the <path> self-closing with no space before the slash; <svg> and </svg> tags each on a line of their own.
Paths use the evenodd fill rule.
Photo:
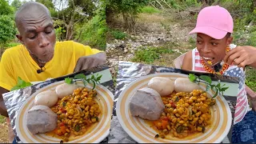
<svg viewBox="0 0 256 144">
<path fill-rule="evenodd" d="M 232 123 L 230 107 L 206 87 L 190 82 L 186 74 L 139 78 L 119 95 L 118 121 L 140 143 L 222 142 Z"/>
</svg>

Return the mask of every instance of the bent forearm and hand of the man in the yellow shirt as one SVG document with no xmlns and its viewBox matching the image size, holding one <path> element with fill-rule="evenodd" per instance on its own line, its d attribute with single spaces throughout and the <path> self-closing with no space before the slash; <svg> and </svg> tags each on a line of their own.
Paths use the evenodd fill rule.
<svg viewBox="0 0 256 144">
<path fill-rule="evenodd" d="M 74 68 L 74 73 L 80 70 L 90 69 L 95 66 L 101 66 L 105 63 L 106 63 L 106 54 L 103 52 L 84 56 L 78 59 L 78 62 Z"/>
</svg>

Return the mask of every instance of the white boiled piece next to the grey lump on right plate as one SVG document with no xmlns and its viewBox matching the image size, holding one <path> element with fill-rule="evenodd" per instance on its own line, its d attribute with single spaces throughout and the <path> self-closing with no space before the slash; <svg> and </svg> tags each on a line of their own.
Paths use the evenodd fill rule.
<svg viewBox="0 0 256 144">
<path fill-rule="evenodd" d="M 174 82 L 169 78 L 154 77 L 150 79 L 148 87 L 156 90 L 161 96 L 166 96 L 174 91 Z"/>
</svg>

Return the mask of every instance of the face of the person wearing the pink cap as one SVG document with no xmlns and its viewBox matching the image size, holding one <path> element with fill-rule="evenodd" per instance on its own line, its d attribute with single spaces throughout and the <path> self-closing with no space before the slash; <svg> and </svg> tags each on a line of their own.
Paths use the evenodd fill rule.
<svg viewBox="0 0 256 144">
<path fill-rule="evenodd" d="M 207 63 L 210 61 L 212 65 L 222 62 L 226 54 L 226 47 L 230 45 L 232 38 L 224 37 L 222 39 L 214 39 L 206 34 L 197 34 L 197 48 L 202 59 Z"/>
</svg>

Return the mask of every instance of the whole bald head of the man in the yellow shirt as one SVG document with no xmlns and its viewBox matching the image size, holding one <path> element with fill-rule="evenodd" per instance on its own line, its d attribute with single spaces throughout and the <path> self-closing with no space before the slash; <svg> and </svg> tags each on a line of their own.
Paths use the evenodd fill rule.
<svg viewBox="0 0 256 144">
<path fill-rule="evenodd" d="M 15 14 L 16 37 L 39 65 L 54 56 L 56 35 L 50 11 L 38 2 L 26 2 Z"/>
</svg>

